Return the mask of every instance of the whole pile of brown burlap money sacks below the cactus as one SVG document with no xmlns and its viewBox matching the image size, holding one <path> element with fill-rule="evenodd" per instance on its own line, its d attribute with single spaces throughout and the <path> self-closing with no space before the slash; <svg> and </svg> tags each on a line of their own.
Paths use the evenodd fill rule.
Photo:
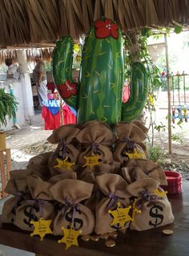
<svg viewBox="0 0 189 256">
<path fill-rule="evenodd" d="M 170 224 L 171 204 L 160 187 L 167 180 L 159 165 L 147 160 L 146 138 L 147 128 L 139 121 L 119 123 L 115 132 L 99 121 L 56 129 L 48 138 L 58 144 L 55 152 L 34 156 L 26 170 L 11 172 L 6 193 L 14 197 L 4 205 L 2 222 L 32 231 L 30 221 L 43 217 L 52 220 L 55 235 L 62 235 L 62 226 L 82 235 L 104 234 L 119 229 L 111 226 L 108 212 L 119 201 L 131 205 L 131 230 Z M 130 159 L 132 152 L 139 158 Z M 99 165 L 87 166 L 87 156 L 99 156 Z M 72 170 L 54 167 L 57 159 L 73 163 Z M 141 213 L 134 214 L 135 209 Z"/>
</svg>

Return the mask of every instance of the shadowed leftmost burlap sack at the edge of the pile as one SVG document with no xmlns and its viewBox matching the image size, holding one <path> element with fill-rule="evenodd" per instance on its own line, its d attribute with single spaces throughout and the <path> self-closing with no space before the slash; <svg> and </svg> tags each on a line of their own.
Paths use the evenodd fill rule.
<svg viewBox="0 0 189 256">
<path fill-rule="evenodd" d="M 16 173 L 16 171 L 15 171 Z M 14 174 L 15 174 L 14 173 Z M 22 174 L 24 172 L 22 171 Z M 18 174 L 21 174 L 18 172 Z M 26 174 L 26 173 L 25 173 Z M 22 203 L 31 198 L 29 193 L 26 177 L 19 176 L 19 179 L 14 179 L 14 176 L 11 175 L 10 180 L 6 185 L 6 193 L 14 195 L 8 199 L 2 209 L 2 222 L 3 223 L 14 223 L 16 216 L 16 209 L 22 205 Z"/>
</svg>

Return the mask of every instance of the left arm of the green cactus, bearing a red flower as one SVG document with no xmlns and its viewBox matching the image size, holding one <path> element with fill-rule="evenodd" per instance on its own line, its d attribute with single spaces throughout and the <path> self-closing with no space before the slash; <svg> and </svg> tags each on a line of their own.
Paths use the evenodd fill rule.
<svg viewBox="0 0 189 256">
<path fill-rule="evenodd" d="M 69 36 L 58 41 L 53 53 L 54 83 L 62 99 L 77 111 L 78 95 L 77 85 L 72 79 L 74 42 Z"/>
</svg>

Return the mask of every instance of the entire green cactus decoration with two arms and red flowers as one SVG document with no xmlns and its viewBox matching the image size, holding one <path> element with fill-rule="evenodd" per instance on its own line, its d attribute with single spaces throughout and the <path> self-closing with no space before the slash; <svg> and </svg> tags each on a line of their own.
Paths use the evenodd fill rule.
<svg viewBox="0 0 189 256">
<path fill-rule="evenodd" d="M 78 85 L 71 76 L 73 47 L 70 37 L 57 43 L 53 75 L 63 100 L 78 112 L 78 123 L 103 120 L 115 124 L 139 116 L 147 98 L 147 72 L 141 63 L 132 65 L 131 98 L 123 104 L 123 37 L 115 22 L 102 18 L 91 27 L 82 51 Z"/>
</svg>

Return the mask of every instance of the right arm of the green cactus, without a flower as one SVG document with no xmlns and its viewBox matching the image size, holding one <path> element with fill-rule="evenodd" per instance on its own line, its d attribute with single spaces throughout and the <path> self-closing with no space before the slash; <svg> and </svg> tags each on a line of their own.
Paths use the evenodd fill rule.
<svg viewBox="0 0 189 256">
<path fill-rule="evenodd" d="M 131 122 L 142 112 L 147 101 L 147 71 L 142 63 L 131 66 L 131 94 L 127 103 L 123 103 L 122 121 Z"/>
</svg>

